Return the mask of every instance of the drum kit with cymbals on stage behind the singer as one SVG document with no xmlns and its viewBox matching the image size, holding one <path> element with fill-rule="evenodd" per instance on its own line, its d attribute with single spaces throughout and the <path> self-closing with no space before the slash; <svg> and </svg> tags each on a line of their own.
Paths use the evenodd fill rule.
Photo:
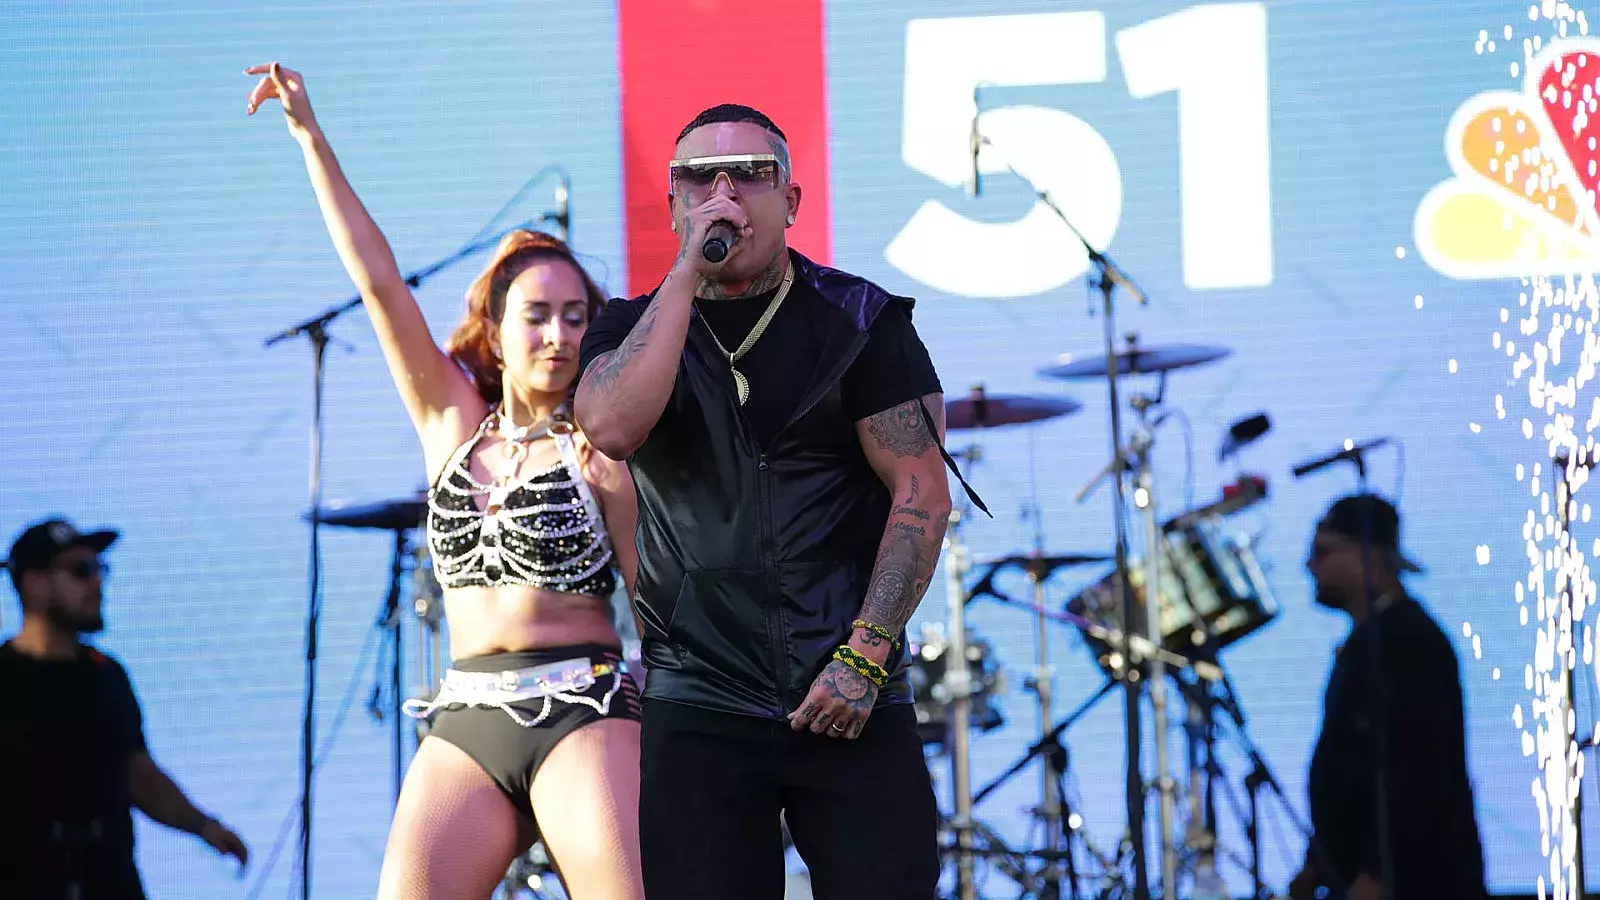
<svg viewBox="0 0 1600 900">
<path fill-rule="evenodd" d="M 942 817 L 941 854 L 954 870 L 950 897 L 978 897 L 981 863 L 1005 876 L 1010 882 L 1005 889 L 1008 895 L 1058 900 L 1069 895 L 1078 898 L 1088 890 L 1101 898 L 1136 897 L 1133 882 L 1138 878 L 1128 870 L 1139 855 L 1134 852 L 1133 860 L 1128 857 L 1134 846 L 1133 831 L 1141 820 L 1130 812 L 1130 831 L 1125 831 L 1115 852 L 1106 854 L 1094 847 L 1082 817 L 1067 801 L 1069 754 L 1062 735 L 1118 685 L 1142 690 L 1150 701 L 1154 733 L 1165 735 L 1168 681 L 1176 685 L 1187 706 L 1187 826 L 1181 846 L 1174 839 L 1179 780 L 1168 767 L 1165 740 L 1152 741 L 1157 769 L 1154 783 L 1146 785 L 1142 775 L 1136 775 L 1130 791 L 1138 791 L 1138 798 L 1130 799 L 1130 806 L 1139 806 L 1142 812 L 1152 786 L 1158 794 L 1160 895 L 1178 895 L 1179 873 L 1189 876 L 1195 887 L 1202 879 L 1214 879 L 1218 847 L 1213 780 L 1224 777 L 1214 756 L 1216 714 L 1221 711 L 1230 716 L 1240 725 L 1237 730 L 1243 729 L 1243 714 L 1218 653 L 1269 625 L 1278 612 L 1253 541 L 1234 525 L 1232 517 L 1264 500 L 1267 487 L 1264 480 L 1245 476 L 1224 487 L 1216 503 L 1157 522 L 1150 448 L 1155 426 L 1165 418 L 1158 413 L 1166 404 L 1166 375 L 1227 356 L 1227 349 L 1211 346 L 1141 346 L 1136 335 L 1128 335 L 1126 348 L 1115 354 L 1067 360 L 1038 372 L 1053 380 L 1107 380 L 1112 373 L 1150 375 L 1158 380 L 1155 394 L 1130 397 L 1138 424 L 1126 448 L 1118 437 L 1117 458 L 1077 495 L 1082 503 L 1099 484 L 1110 480 L 1118 490 L 1118 500 L 1131 500 L 1144 519 L 1141 556 L 1131 556 L 1122 541 L 1118 552 L 1046 552 L 1035 503 L 1035 540 L 1030 551 L 974 559 L 963 533 L 970 508 L 963 504 L 950 514 L 944 544 L 947 620 L 925 625 L 922 641 L 914 641 L 909 647 L 917 722 L 930 765 L 939 757 L 947 757 L 949 762 L 950 796 L 949 812 Z M 946 424 L 952 432 L 982 434 L 1005 426 L 1034 426 L 1080 410 L 1080 404 L 1062 397 L 990 396 L 982 386 L 976 386 L 966 397 L 947 400 Z M 1243 428 L 1235 424 L 1226 436 L 1226 453 L 1235 453 L 1240 445 L 1267 431 L 1264 416 L 1246 423 Z M 966 477 L 984 452 L 974 440 L 952 455 L 965 461 Z M 1051 609 L 1046 604 L 1046 585 L 1059 573 L 1090 565 L 1109 565 L 1110 570 L 1077 591 L 1062 609 Z M 1027 594 L 1013 597 L 997 588 L 997 578 L 1003 573 L 1022 575 Z M 1123 589 L 1125 581 L 1128 591 Z M 1147 591 L 1150 585 L 1157 589 Z M 974 791 L 971 741 L 1003 727 L 1005 714 L 997 695 L 1005 692 L 1006 682 L 992 644 L 978 637 L 966 625 L 968 604 L 979 599 L 1024 610 L 1032 618 L 1034 658 L 1024 685 L 1037 703 L 1038 735 L 1016 764 Z M 1082 633 L 1104 674 L 1099 690 L 1059 721 L 1053 697 L 1054 669 L 1048 653 L 1054 626 Z M 1139 706 L 1133 709 L 1133 716 L 1138 716 Z M 1130 741 L 1138 741 L 1138 733 L 1131 729 Z M 1138 759 L 1138 754 L 1130 753 L 1130 757 Z M 1251 751 L 1250 759 L 1256 770 L 1246 778 L 1251 822 L 1243 823 L 1243 831 L 1251 841 L 1254 897 L 1261 900 L 1269 892 L 1261 884 L 1254 801 L 1262 785 L 1274 783 L 1259 756 Z M 1034 828 L 1029 834 L 1038 836 L 1038 841 L 1024 849 L 1010 847 L 994 828 L 974 817 L 973 809 L 1035 762 L 1040 802 L 1032 810 Z M 1142 767 L 1136 770 L 1139 769 Z"/>
</svg>

